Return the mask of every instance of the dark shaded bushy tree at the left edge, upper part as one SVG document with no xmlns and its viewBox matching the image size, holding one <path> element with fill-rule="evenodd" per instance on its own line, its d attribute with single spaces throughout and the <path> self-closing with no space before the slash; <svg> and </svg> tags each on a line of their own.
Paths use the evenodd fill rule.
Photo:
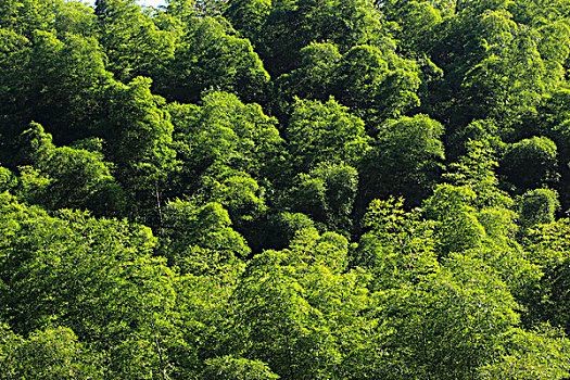
<svg viewBox="0 0 570 380">
<path fill-rule="evenodd" d="M 33 121 L 60 143 L 90 136 L 92 121 L 102 116 L 100 93 L 110 80 L 98 41 L 36 30 L 10 45 L 0 63 L 5 137 L 14 138 Z"/>
</svg>

